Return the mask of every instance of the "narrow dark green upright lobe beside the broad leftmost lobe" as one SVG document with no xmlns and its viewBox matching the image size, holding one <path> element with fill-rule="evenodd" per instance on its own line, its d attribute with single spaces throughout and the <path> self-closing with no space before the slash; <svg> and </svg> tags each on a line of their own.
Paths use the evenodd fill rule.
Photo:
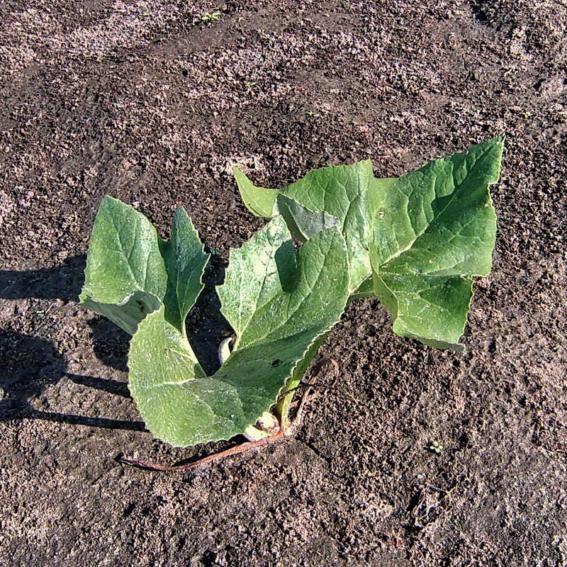
<svg viewBox="0 0 567 567">
<path fill-rule="evenodd" d="M 201 278 L 210 254 L 203 251 L 203 243 L 184 208 L 175 211 L 171 240 L 159 244 L 168 276 L 165 318 L 185 334 L 185 318 L 203 290 Z"/>
</svg>

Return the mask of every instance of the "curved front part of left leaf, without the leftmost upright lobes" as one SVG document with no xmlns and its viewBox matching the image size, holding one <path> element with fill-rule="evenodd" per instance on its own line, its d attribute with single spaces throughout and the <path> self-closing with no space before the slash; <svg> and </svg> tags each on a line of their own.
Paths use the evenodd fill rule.
<svg viewBox="0 0 567 567">
<path fill-rule="evenodd" d="M 237 340 L 208 378 L 164 309 L 148 315 L 128 364 L 130 391 L 150 430 L 185 446 L 228 439 L 254 425 L 313 342 L 339 320 L 349 296 L 346 262 L 336 227 L 296 252 L 281 216 L 232 250 L 218 294 Z"/>
</svg>

